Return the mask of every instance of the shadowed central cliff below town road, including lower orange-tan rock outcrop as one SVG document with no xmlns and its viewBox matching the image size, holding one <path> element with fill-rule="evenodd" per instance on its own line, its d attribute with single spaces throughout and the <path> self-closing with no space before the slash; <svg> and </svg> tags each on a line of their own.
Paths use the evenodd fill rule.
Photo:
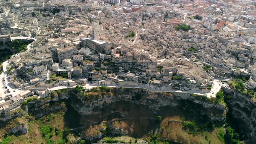
<svg viewBox="0 0 256 144">
<path fill-rule="evenodd" d="M 114 88 L 111 92 L 102 93 L 96 98 L 87 97 L 88 95 L 81 96 L 71 92 L 69 101 L 70 106 L 81 116 L 79 123 L 84 126 L 83 139 L 90 142 L 96 142 L 104 137 L 105 131 L 108 131 L 107 136 L 111 137 L 141 137 L 149 131 L 158 129 L 158 115 L 162 118 L 178 115 L 191 120 L 206 119 L 216 125 L 222 125 L 227 112 L 224 105 L 206 99 L 200 100 L 185 93 Z M 118 121 L 113 121 L 116 119 Z M 107 124 L 108 129 L 98 128 L 102 122 Z M 95 125 L 96 128 L 91 128 L 91 125 Z"/>
</svg>

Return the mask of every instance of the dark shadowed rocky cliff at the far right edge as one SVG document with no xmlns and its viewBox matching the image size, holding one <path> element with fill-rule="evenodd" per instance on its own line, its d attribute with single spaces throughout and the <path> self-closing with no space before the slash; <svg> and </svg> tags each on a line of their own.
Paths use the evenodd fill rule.
<svg viewBox="0 0 256 144">
<path fill-rule="evenodd" d="M 246 95 L 235 91 L 233 98 L 227 101 L 230 108 L 230 118 L 236 123 L 241 134 L 246 135 L 248 141 L 256 141 L 256 103 Z"/>
</svg>

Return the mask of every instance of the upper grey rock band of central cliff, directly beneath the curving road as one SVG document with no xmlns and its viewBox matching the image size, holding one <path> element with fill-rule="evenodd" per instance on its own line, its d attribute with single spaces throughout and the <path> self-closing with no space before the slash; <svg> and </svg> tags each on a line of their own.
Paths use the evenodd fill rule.
<svg viewBox="0 0 256 144">
<path fill-rule="evenodd" d="M 184 102 L 196 105 L 200 108 L 201 115 L 207 115 L 211 121 L 224 121 L 226 116 L 226 106 L 210 101 L 197 100 L 190 94 L 152 92 L 138 88 L 114 88 L 111 94 L 103 94 L 98 99 L 86 100 L 81 96 L 71 94 L 71 106 L 80 115 L 97 115 L 101 110 L 109 105 L 128 102 L 133 105 L 147 106 L 153 113 L 157 113 L 161 108 L 181 108 Z"/>
</svg>

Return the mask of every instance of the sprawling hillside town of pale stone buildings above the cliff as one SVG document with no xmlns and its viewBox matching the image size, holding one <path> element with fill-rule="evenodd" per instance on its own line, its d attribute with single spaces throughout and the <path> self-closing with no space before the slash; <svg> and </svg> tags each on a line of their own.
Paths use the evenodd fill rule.
<svg viewBox="0 0 256 144">
<path fill-rule="evenodd" d="M 76 85 L 254 89 L 255 11 L 256 0 L 1 0 L 0 43 L 33 42 L 2 63 L 0 113 Z"/>
</svg>

